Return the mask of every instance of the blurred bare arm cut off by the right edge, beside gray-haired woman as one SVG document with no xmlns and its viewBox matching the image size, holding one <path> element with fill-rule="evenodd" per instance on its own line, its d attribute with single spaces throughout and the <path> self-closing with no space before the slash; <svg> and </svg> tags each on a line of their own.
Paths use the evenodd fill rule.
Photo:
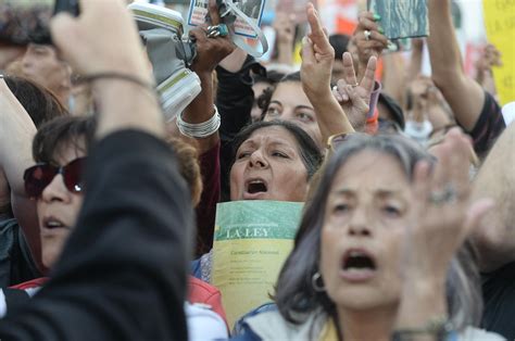
<svg viewBox="0 0 515 341">
<path fill-rule="evenodd" d="M 475 199 L 491 198 L 495 205 L 473 238 L 480 268 L 490 271 L 515 262 L 515 125 L 493 146 L 474 184 Z"/>
</svg>

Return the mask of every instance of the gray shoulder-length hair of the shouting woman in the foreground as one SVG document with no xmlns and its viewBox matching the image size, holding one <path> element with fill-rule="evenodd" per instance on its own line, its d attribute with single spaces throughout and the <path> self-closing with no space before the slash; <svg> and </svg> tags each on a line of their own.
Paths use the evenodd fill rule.
<svg viewBox="0 0 515 341">
<path fill-rule="evenodd" d="M 435 163 L 431 155 L 402 136 L 361 134 L 352 135 L 330 160 L 326 161 L 319 171 L 316 189 L 304 207 L 293 251 L 285 262 L 276 285 L 274 299 L 278 310 L 282 317 L 292 324 L 304 323 L 310 313 L 319 310 L 337 320 L 335 303 L 326 292 L 314 290 L 312 276 L 318 270 L 321 231 L 332 181 L 346 162 L 364 150 L 393 156 L 410 180 L 413 180 L 415 165 L 419 161 Z M 478 270 L 470 252 L 467 247 L 460 250 L 451 263 L 447 278 L 448 311 L 459 329 L 477 325 L 482 310 Z"/>
</svg>

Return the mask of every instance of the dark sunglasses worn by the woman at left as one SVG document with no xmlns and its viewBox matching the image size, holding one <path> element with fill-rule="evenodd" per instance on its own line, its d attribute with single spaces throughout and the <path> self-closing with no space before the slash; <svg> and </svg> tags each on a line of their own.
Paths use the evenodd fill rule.
<svg viewBox="0 0 515 341">
<path fill-rule="evenodd" d="M 55 167 L 48 163 L 39 163 L 27 168 L 23 175 L 25 181 L 25 192 L 28 197 L 39 198 L 47 186 L 52 182 L 53 178 L 61 174 L 63 176 L 66 189 L 73 193 L 83 190 L 83 165 L 86 157 L 78 157 L 70 162 L 67 165 Z"/>
</svg>

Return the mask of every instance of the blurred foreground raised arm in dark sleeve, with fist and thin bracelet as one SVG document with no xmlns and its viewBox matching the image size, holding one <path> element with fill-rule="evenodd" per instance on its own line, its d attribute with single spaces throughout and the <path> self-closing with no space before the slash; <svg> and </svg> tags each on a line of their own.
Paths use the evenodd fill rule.
<svg viewBox="0 0 515 341">
<path fill-rule="evenodd" d="M 85 77 L 117 76 L 92 80 L 98 141 L 77 225 L 49 283 L 0 321 L 0 338 L 186 340 L 191 207 L 160 140 L 153 77 L 122 1 L 83 0 L 80 10 L 53 20 L 54 43 Z"/>
</svg>

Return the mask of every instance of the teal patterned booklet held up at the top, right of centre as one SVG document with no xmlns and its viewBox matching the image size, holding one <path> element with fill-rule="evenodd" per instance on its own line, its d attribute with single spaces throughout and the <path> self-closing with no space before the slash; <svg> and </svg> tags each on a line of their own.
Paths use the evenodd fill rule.
<svg viewBox="0 0 515 341">
<path fill-rule="evenodd" d="M 381 16 L 388 39 L 427 37 L 427 0 L 368 0 L 368 10 Z"/>
</svg>

